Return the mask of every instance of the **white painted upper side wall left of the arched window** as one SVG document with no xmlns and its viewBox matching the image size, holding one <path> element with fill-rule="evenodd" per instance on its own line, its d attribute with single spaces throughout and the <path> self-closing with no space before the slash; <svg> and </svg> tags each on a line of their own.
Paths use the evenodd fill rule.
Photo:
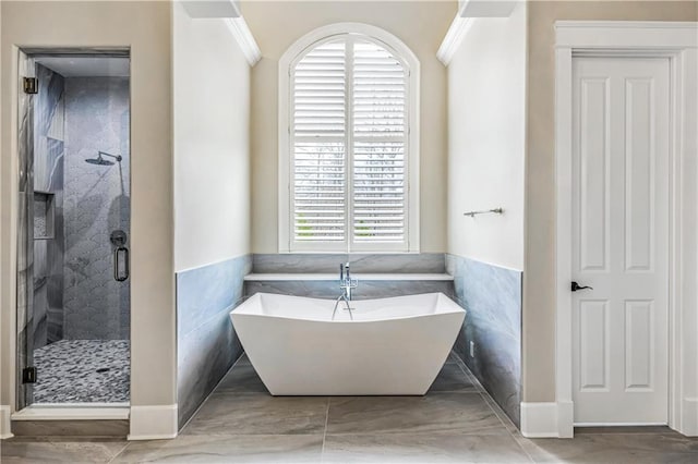
<svg viewBox="0 0 698 464">
<path fill-rule="evenodd" d="M 174 270 L 250 253 L 250 65 L 226 20 L 173 5 Z"/>
</svg>

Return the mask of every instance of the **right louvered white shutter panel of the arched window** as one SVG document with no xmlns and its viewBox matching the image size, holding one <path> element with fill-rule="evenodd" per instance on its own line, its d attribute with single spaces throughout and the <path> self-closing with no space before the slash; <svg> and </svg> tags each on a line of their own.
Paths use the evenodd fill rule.
<svg viewBox="0 0 698 464">
<path fill-rule="evenodd" d="M 402 64 L 371 41 L 353 45 L 353 241 L 404 242 L 406 87 Z"/>
</svg>

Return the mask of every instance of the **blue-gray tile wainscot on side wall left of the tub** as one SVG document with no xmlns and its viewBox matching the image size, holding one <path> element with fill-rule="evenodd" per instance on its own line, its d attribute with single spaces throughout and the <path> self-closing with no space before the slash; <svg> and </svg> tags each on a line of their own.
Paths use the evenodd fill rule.
<svg viewBox="0 0 698 464">
<path fill-rule="evenodd" d="M 229 313 L 242 301 L 250 255 L 177 273 L 177 400 L 179 426 L 242 354 Z"/>
</svg>

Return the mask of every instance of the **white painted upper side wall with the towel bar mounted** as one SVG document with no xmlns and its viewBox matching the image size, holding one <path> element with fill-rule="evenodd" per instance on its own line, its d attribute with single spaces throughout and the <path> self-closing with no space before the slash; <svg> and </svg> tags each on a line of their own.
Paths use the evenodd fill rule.
<svg viewBox="0 0 698 464">
<path fill-rule="evenodd" d="M 448 66 L 448 253 L 524 269 L 526 2 L 473 19 Z M 503 216 L 464 217 L 504 208 Z"/>
</svg>

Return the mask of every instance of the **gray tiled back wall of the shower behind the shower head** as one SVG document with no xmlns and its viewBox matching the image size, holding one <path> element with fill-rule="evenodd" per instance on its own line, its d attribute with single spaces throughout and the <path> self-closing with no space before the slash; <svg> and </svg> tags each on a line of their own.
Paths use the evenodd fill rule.
<svg viewBox="0 0 698 464">
<path fill-rule="evenodd" d="M 129 339 L 129 281 L 113 278 L 111 231 L 130 230 L 128 77 L 65 80 L 64 338 Z M 85 162 L 99 151 L 121 162 Z"/>
</svg>

